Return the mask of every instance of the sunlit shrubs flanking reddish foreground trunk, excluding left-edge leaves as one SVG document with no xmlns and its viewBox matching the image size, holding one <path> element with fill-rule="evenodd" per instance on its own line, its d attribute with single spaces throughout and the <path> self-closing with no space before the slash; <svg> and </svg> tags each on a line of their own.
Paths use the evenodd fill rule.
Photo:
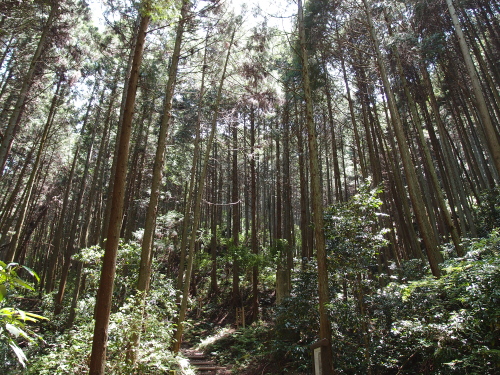
<svg viewBox="0 0 500 375">
<path fill-rule="evenodd" d="M 84 262 L 86 288 L 78 301 L 78 316 L 73 327 L 64 331 L 65 315 L 69 306 L 57 322 L 46 327 L 46 345 L 38 349 L 36 362 L 30 365 L 27 374 L 84 374 L 88 372 L 94 330 L 95 294 L 99 280 L 99 247 L 83 249 L 75 258 Z M 175 289 L 172 281 L 157 272 L 153 264 L 151 289 L 145 301 L 145 313 L 141 311 L 135 296 L 140 247 L 134 243 L 122 243 L 118 251 L 117 276 L 110 315 L 106 373 L 109 374 L 164 374 L 170 369 L 179 369 L 181 357 L 170 350 L 173 335 L 173 320 L 177 314 Z M 69 298 L 68 298 L 69 300 Z M 53 299 L 46 298 L 47 309 Z M 67 302 L 69 303 L 69 301 Z M 130 366 L 126 360 L 131 337 L 136 327 L 141 327 L 138 362 Z"/>
</svg>

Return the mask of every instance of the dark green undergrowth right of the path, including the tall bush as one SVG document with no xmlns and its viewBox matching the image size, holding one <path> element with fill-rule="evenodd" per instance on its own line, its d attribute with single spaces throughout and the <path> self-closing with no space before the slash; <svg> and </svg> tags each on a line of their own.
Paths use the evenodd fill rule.
<svg viewBox="0 0 500 375">
<path fill-rule="evenodd" d="M 336 370 L 340 374 L 498 373 L 498 231 L 468 240 L 466 255 L 446 260 L 439 279 L 428 270 L 422 276 L 422 264 L 408 260 L 394 268 L 393 275 L 386 275 L 387 283 L 381 287 L 366 274 L 370 269 L 366 262 L 376 263 L 381 248 L 369 219 L 377 217 L 378 193 L 365 186 L 329 214 L 331 246 L 342 246 L 344 256 L 355 255 L 342 263 L 349 265 L 344 272 L 332 267 L 330 275 L 335 280 L 329 313 Z M 371 255 L 362 257 L 362 249 L 371 249 Z M 310 345 L 317 341 L 318 330 L 316 277 L 314 264 L 296 274 L 291 296 L 275 308 L 272 327 L 214 335 L 207 350 L 240 366 L 268 364 L 266 373 L 310 373 Z"/>
</svg>

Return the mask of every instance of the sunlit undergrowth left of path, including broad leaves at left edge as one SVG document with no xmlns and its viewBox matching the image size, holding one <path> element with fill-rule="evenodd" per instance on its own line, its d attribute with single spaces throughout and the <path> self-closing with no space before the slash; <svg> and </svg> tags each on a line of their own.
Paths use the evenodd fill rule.
<svg viewBox="0 0 500 375">
<path fill-rule="evenodd" d="M 174 329 L 173 320 L 176 316 L 175 290 L 172 287 L 172 281 L 161 272 L 156 273 L 153 280 L 154 292 L 150 293 L 144 302 L 146 306 L 145 318 L 139 314 L 137 309 L 137 297 L 129 295 L 129 291 L 133 290 L 135 281 L 130 275 L 137 272 L 139 263 L 138 249 L 136 244 L 123 244 L 119 250 L 118 282 L 111 315 L 108 342 L 109 361 L 106 371 L 113 374 L 164 374 L 169 369 L 181 368 L 185 368 L 187 371 L 189 365 L 185 359 L 165 350 L 171 344 Z M 39 322 L 37 324 L 39 333 L 35 337 L 40 340 L 43 338 L 43 342 L 28 347 L 28 358 L 18 354 L 18 356 L 22 356 L 23 365 L 24 361 L 29 363 L 23 373 L 82 374 L 87 371 L 88 353 L 92 345 L 95 291 L 99 276 L 98 263 L 102 254 L 102 249 L 94 246 L 83 249 L 75 257 L 84 264 L 86 286 L 81 292 L 82 295 L 76 306 L 78 314 L 71 327 L 68 327 L 69 313 L 57 316 L 50 314 L 50 311 L 54 308 L 54 296 L 52 294 L 45 296 L 41 308 L 50 317 L 50 320 L 46 323 Z M 155 269 L 159 267 L 159 264 L 155 265 Z M 15 276 L 12 269 L 9 270 L 7 275 L 9 277 L 5 284 L 29 287 L 28 284 Z M 4 312 L 4 310 L 7 311 L 8 309 L 4 308 L 0 311 Z M 15 333 L 13 332 L 15 329 L 12 326 L 13 324 L 18 327 L 16 336 L 22 337 L 20 337 L 21 341 L 17 340 L 17 342 L 21 342 L 24 346 L 25 339 L 30 339 L 30 337 L 20 329 L 26 331 L 26 320 L 36 322 L 42 317 L 18 309 L 12 311 L 15 314 L 8 321 L 7 314 L 2 314 L 2 322 L 7 325 L 10 333 Z M 69 312 L 69 306 L 64 311 Z M 138 348 L 141 359 L 135 366 L 131 367 L 127 363 L 126 354 L 127 348 L 130 347 L 132 328 L 137 325 L 141 327 L 142 331 L 141 346 Z M 30 324 L 30 327 L 32 326 L 33 323 Z M 2 332 L 5 332 L 5 330 Z M 27 332 L 34 334 L 31 330 Z M 11 338 L 7 333 L 3 337 L 9 340 L 11 346 L 16 345 L 14 338 Z M 3 361 L 0 369 L 4 373 L 14 374 L 19 371 L 15 370 L 17 367 L 19 366 L 16 366 L 15 361 L 8 359 Z"/>
</svg>

